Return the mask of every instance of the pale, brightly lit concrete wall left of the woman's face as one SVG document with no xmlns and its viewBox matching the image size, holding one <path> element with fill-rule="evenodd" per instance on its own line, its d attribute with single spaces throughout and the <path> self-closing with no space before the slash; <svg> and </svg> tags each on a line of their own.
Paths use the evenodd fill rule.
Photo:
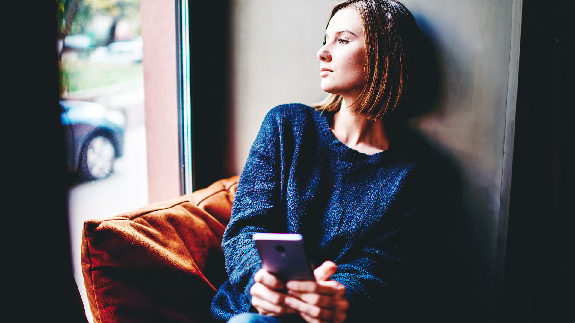
<svg viewBox="0 0 575 323">
<path fill-rule="evenodd" d="M 319 59 L 332 0 L 231 2 L 232 136 L 228 172 L 240 174 L 263 117 L 284 103 L 315 103 Z"/>
</svg>

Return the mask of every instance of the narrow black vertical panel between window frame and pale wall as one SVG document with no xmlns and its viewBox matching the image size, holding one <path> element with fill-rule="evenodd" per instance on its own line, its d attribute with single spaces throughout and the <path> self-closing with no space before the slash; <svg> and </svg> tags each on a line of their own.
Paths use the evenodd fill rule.
<svg viewBox="0 0 575 323">
<path fill-rule="evenodd" d="M 232 142 L 228 140 L 229 6 L 229 0 L 197 1 L 189 11 L 194 190 L 238 175 L 226 170 Z"/>
</svg>

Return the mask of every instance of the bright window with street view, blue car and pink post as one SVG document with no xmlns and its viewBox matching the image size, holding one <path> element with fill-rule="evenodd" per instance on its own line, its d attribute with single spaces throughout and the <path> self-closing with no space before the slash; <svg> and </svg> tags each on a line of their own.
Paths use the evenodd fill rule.
<svg viewBox="0 0 575 323">
<path fill-rule="evenodd" d="M 59 14 L 72 266 L 92 321 L 83 222 L 191 191 L 191 134 L 183 130 L 190 129 L 190 91 L 180 90 L 190 78 L 182 72 L 189 60 L 180 57 L 189 56 L 180 52 L 186 35 L 177 32 L 187 11 L 164 2 L 62 0 Z"/>
</svg>

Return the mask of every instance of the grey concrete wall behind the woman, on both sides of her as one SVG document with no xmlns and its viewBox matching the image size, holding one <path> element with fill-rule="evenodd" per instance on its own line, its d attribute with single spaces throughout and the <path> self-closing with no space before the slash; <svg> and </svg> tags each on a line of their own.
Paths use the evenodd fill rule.
<svg viewBox="0 0 575 323">
<path fill-rule="evenodd" d="M 404 0 L 434 44 L 442 76 L 439 103 L 413 123 L 454 156 L 466 182 L 473 227 L 494 306 L 501 286 L 522 1 Z M 282 103 L 314 103 L 316 52 L 331 0 L 233 1 L 231 158 L 239 174 L 264 115 Z M 497 309 L 495 309 L 497 310 Z"/>
</svg>

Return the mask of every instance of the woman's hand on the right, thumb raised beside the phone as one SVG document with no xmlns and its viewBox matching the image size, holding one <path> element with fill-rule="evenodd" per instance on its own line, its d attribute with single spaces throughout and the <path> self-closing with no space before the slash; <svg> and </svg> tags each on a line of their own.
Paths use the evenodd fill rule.
<svg viewBox="0 0 575 323">
<path fill-rule="evenodd" d="M 316 281 L 290 280 L 286 283 L 287 297 L 284 302 L 300 313 L 309 323 L 342 323 L 346 320 L 350 303 L 346 299 L 346 287 L 335 280 L 328 280 L 338 265 L 324 262 L 313 271 Z"/>
</svg>

